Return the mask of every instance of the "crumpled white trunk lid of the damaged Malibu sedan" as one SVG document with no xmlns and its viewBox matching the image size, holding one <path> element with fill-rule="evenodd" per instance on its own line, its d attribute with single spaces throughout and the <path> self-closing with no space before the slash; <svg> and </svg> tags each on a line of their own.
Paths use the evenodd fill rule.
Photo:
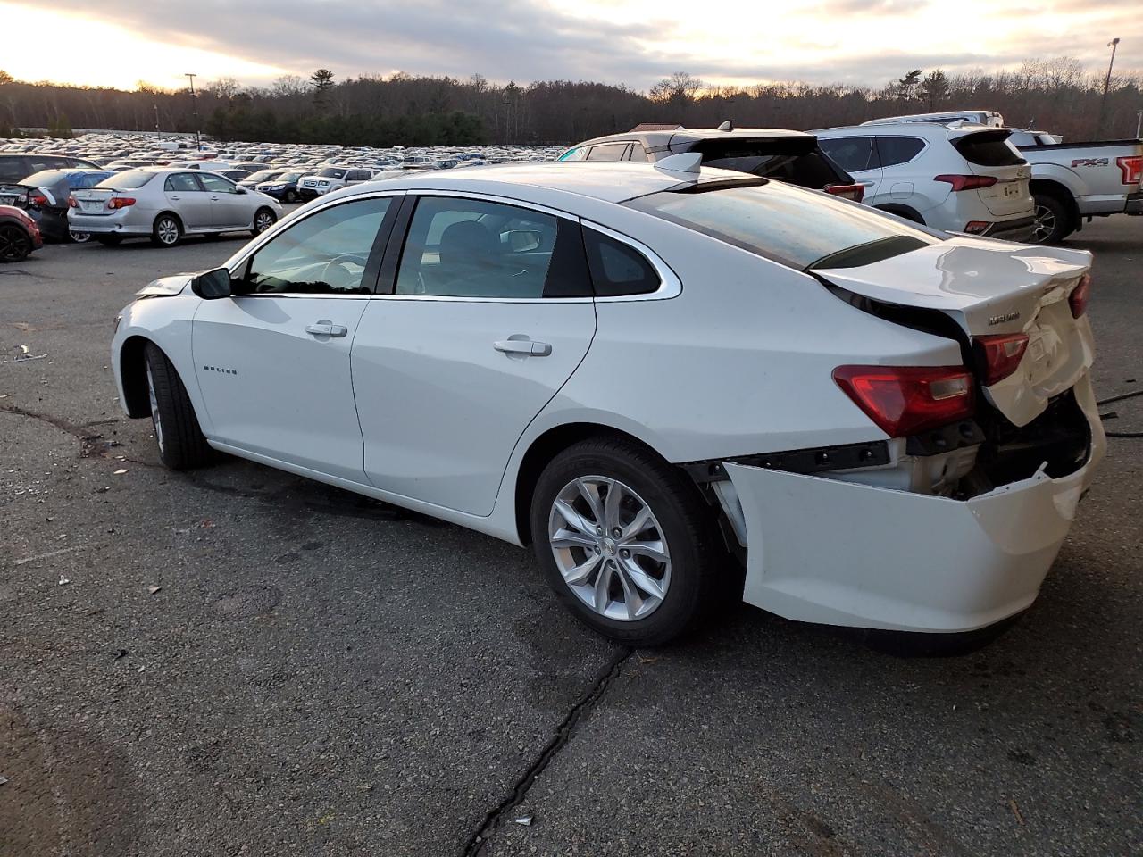
<svg viewBox="0 0 1143 857">
<path fill-rule="evenodd" d="M 952 238 L 862 267 L 814 273 L 882 304 L 940 311 L 970 342 L 1026 334 L 1028 347 L 1012 375 L 983 386 L 973 367 L 989 401 L 1023 426 L 1092 366 L 1092 327 L 1086 314 L 1072 318 L 1068 302 L 1090 266 L 1086 250 Z"/>
</svg>

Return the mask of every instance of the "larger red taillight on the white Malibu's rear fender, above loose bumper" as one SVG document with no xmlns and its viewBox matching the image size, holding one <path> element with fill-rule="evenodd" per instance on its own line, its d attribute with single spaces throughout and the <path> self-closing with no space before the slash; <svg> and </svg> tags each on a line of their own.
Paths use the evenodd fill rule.
<svg viewBox="0 0 1143 857">
<path fill-rule="evenodd" d="M 973 376 L 962 366 L 839 366 L 833 381 L 890 438 L 973 416 Z"/>
</svg>

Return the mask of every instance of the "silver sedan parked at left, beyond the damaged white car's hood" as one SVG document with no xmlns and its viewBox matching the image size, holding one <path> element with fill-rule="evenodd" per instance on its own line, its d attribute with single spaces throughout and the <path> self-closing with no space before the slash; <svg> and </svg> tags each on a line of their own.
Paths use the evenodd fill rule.
<svg viewBox="0 0 1143 857">
<path fill-rule="evenodd" d="M 67 205 L 70 229 L 104 245 L 149 237 L 159 247 L 174 247 L 189 234 L 258 234 L 282 214 L 272 197 L 223 176 L 163 168 L 119 173 L 95 187 L 75 190 Z"/>
</svg>

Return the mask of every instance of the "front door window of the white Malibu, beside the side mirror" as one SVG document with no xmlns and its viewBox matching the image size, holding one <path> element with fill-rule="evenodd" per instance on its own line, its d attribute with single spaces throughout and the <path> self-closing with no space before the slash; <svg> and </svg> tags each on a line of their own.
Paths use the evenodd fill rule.
<svg viewBox="0 0 1143 857">
<path fill-rule="evenodd" d="M 371 295 L 366 267 L 391 203 L 354 200 L 296 223 L 254 254 L 235 293 Z"/>
</svg>

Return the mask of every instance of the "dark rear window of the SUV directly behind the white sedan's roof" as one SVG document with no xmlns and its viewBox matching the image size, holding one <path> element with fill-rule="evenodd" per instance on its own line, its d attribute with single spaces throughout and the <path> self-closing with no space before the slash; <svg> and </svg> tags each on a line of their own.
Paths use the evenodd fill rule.
<svg viewBox="0 0 1143 857">
<path fill-rule="evenodd" d="M 802 187 L 848 184 L 849 176 L 822 157 L 813 137 L 760 141 L 704 139 L 693 151 L 702 152 L 708 167 L 778 178 Z"/>
</svg>

